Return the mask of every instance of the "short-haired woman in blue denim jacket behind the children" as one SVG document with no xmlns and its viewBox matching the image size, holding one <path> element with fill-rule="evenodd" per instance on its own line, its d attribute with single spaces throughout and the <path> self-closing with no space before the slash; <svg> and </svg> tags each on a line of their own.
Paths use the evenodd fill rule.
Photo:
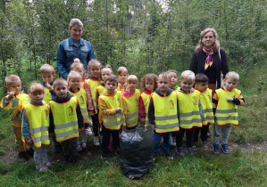
<svg viewBox="0 0 267 187">
<path fill-rule="evenodd" d="M 75 58 L 83 64 L 84 69 L 88 71 L 88 61 L 95 59 L 92 45 L 80 38 L 83 24 L 79 19 L 72 19 L 70 22 L 71 37 L 59 43 L 57 48 L 56 66 L 64 78 L 68 77 L 71 71 L 71 64 Z"/>
</svg>

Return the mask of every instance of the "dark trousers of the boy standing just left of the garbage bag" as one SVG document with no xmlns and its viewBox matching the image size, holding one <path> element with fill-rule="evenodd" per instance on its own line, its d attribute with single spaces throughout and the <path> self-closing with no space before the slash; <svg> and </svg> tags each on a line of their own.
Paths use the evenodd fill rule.
<svg viewBox="0 0 267 187">
<path fill-rule="evenodd" d="M 102 150 L 104 154 L 108 153 L 108 145 L 111 135 L 113 136 L 113 150 L 120 149 L 120 139 L 119 139 L 120 129 L 111 130 L 102 126 L 102 133 L 103 133 Z"/>
</svg>

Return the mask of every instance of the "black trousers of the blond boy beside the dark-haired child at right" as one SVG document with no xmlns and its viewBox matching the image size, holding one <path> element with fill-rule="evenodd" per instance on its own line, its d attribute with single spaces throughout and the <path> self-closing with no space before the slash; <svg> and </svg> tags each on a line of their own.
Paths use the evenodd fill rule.
<svg viewBox="0 0 267 187">
<path fill-rule="evenodd" d="M 179 128 L 179 131 L 176 133 L 176 146 L 177 148 L 183 146 L 183 137 L 184 134 L 186 133 L 187 136 L 187 145 L 188 148 L 192 148 L 194 144 L 194 134 L 195 134 L 195 126 L 190 129 L 185 129 L 185 128 Z"/>
</svg>

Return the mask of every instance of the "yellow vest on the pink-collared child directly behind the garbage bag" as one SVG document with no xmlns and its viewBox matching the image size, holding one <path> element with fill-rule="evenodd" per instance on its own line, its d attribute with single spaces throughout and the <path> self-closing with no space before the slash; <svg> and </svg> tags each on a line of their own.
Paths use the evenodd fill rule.
<svg viewBox="0 0 267 187">
<path fill-rule="evenodd" d="M 127 104 L 127 127 L 138 126 L 138 116 L 139 116 L 139 97 L 140 90 L 136 89 L 133 95 L 126 97 L 123 96 L 124 101 Z"/>
</svg>

